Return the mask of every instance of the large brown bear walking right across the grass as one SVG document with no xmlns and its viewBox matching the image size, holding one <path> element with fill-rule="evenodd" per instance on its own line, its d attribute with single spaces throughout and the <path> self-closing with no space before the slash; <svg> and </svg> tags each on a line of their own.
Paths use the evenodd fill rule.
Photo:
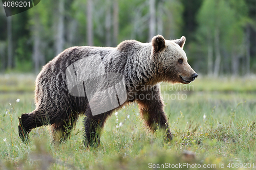
<svg viewBox="0 0 256 170">
<path fill-rule="evenodd" d="M 151 43 L 126 40 L 117 47 L 74 46 L 47 63 L 36 78 L 35 104 L 19 117 L 19 136 L 27 141 L 36 127 L 51 125 L 55 141 L 69 137 L 79 115 L 84 144 L 98 145 L 106 119 L 122 106 L 137 102 L 145 124 L 172 139 L 159 83 L 183 83 L 198 76 L 183 51 L 185 37 Z"/>
</svg>

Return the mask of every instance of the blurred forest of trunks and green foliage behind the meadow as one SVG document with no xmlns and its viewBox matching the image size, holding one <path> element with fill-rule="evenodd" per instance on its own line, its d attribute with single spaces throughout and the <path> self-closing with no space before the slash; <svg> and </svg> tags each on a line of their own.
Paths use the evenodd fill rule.
<svg viewBox="0 0 256 170">
<path fill-rule="evenodd" d="M 190 65 L 209 76 L 256 72 L 255 0 L 43 0 L 6 17 L 0 6 L 0 71 L 35 72 L 71 46 L 117 46 L 186 37 Z"/>
</svg>

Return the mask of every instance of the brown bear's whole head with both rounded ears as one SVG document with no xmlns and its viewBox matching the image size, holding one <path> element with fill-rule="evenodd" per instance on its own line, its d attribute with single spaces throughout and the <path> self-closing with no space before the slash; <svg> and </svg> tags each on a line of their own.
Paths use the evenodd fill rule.
<svg viewBox="0 0 256 170">
<path fill-rule="evenodd" d="M 188 84 L 197 78 L 197 73 L 187 63 L 183 51 L 186 38 L 165 40 L 157 35 L 152 39 L 152 59 L 157 63 L 161 81 Z"/>
</svg>

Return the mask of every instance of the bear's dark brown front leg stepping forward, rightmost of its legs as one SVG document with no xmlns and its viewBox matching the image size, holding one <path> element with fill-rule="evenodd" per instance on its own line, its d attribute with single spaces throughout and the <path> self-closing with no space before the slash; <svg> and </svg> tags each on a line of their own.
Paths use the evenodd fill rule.
<svg viewBox="0 0 256 170">
<path fill-rule="evenodd" d="M 138 103 L 140 113 L 145 120 L 146 125 L 152 130 L 157 130 L 157 127 L 166 131 L 167 140 L 172 140 L 172 133 L 168 128 L 168 120 L 164 113 L 164 104 L 160 96 L 160 88 L 158 85 L 137 95 L 136 102 Z"/>
</svg>

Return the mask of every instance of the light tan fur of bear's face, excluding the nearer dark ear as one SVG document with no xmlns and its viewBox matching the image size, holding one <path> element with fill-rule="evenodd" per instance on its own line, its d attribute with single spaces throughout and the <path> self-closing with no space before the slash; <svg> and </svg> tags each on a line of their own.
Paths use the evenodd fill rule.
<svg viewBox="0 0 256 170">
<path fill-rule="evenodd" d="M 187 62 L 186 53 L 183 51 L 184 44 L 185 37 L 165 40 L 165 47 L 158 54 L 163 81 L 188 84 L 197 77 L 196 72 Z"/>
</svg>

